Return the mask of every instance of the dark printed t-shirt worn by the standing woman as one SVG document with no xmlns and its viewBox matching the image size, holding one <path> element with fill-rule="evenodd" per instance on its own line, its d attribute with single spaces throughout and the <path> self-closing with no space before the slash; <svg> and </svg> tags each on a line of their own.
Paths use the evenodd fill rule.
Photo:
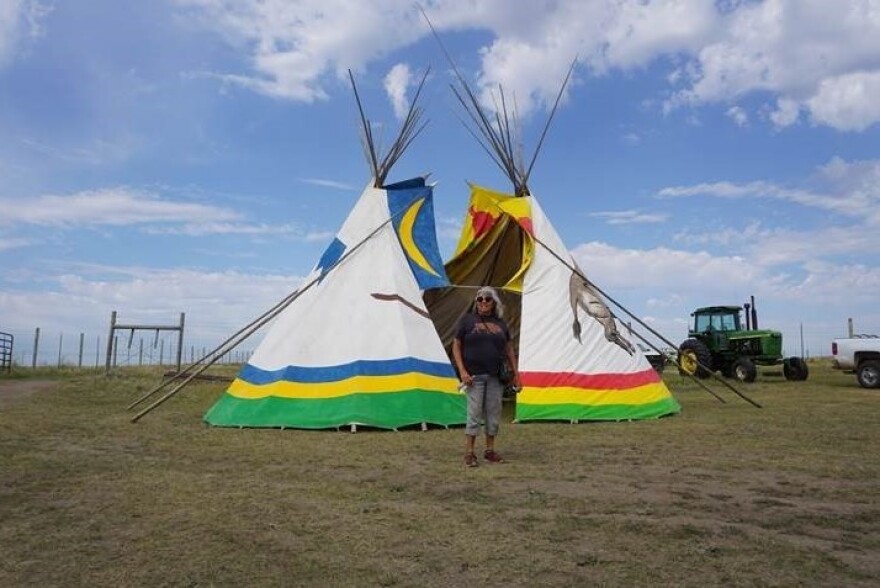
<svg viewBox="0 0 880 588">
<path fill-rule="evenodd" d="M 458 323 L 455 338 L 461 341 L 461 358 L 471 375 L 497 375 L 507 356 L 510 340 L 507 323 L 492 316 L 466 314 Z"/>
</svg>

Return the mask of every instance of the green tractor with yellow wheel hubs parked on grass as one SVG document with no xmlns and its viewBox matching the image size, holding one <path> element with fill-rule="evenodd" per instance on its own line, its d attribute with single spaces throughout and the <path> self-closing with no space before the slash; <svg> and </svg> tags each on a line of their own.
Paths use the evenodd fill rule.
<svg viewBox="0 0 880 588">
<path fill-rule="evenodd" d="M 757 366 L 781 363 L 786 380 L 806 380 L 809 369 L 803 359 L 783 359 L 782 333 L 758 329 L 754 297 L 744 307 L 745 328 L 742 306 L 707 306 L 691 314 L 694 322 L 688 329 L 688 339 L 678 348 L 679 373 L 708 378 L 710 372 L 720 371 L 727 378 L 754 382 Z"/>
</svg>

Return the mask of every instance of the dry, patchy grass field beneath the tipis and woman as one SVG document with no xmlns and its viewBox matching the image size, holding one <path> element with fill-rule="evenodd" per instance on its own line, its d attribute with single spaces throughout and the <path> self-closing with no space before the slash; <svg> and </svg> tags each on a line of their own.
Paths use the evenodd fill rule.
<svg viewBox="0 0 880 588">
<path fill-rule="evenodd" d="M 880 394 L 672 369 L 681 415 L 463 431 L 212 429 L 223 384 L 137 424 L 132 371 L 0 376 L 0 586 L 877 586 Z M 512 406 L 506 410 L 512 414 Z"/>
</svg>

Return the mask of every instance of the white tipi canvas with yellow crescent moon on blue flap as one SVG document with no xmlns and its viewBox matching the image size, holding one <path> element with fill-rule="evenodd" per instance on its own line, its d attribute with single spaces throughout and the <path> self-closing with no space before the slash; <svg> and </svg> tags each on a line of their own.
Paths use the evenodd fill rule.
<svg viewBox="0 0 880 588">
<path fill-rule="evenodd" d="M 422 301 L 448 284 L 432 188 L 368 187 L 303 291 L 205 415 L 217 426 L 395 429 L 464 422 L 465 398 Z"/>
</svg>

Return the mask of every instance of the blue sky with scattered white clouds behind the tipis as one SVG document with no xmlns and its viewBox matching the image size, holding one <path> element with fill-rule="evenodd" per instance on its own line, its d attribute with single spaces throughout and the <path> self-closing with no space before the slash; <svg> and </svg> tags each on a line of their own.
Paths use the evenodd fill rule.
<svg viewBox="0 0 880 588">
<path fill-rule="evenodd" d="M 803 329 L 828 355 L 850 317 L 880 333 L 880 1 L 423 6 L 474 88 L 515 96 L 526 153 L 577 57 L 530 187 L 666 337 L 751 295 L 789 354 Z M 448 256 L 466 182 L 509 182 L 414 3 L 0 0 L 0 330 L 72 344 L 112 310 L 186 312 L 219 342 L 296 288 L 370 179 L 347 70 L 390 138 L 427 68 L 389 180 L 431 172 Z"/>
</svg>

